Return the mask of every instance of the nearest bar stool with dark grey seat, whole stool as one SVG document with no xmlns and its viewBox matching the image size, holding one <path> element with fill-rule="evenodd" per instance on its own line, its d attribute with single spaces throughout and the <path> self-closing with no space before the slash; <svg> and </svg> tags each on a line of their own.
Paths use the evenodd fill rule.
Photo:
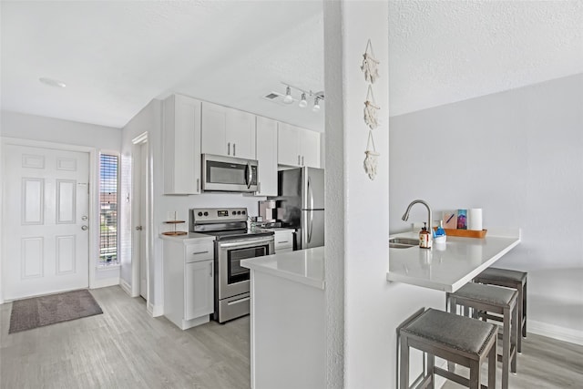
<svg viewBox="0 0 583 389">
<path fill-rule="evenodd" d="M 401 389 L 409 388 L 409 348 L 427 353 L 427 372 L 416 387 L 435 387 L 435 374 L 471 389 L 481 388 L 480 366 L 488 360 L 488 388 L 496 387 L 497 325 L 429 309 L 399 330 Z M 470 369 L 470 378 L 435 367 L 435 356 Z"/>
</svg>

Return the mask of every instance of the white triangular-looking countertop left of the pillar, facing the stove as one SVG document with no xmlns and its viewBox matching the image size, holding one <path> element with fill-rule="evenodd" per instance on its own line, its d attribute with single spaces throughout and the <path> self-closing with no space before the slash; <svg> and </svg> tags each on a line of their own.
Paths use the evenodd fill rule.
<svg viewBox="0 0 583 389">
<path fill-rule="evenodd" d="M 240 265 L 322 290 L 325 286 L 323 247 L 251 258 Z"/>
</svg>

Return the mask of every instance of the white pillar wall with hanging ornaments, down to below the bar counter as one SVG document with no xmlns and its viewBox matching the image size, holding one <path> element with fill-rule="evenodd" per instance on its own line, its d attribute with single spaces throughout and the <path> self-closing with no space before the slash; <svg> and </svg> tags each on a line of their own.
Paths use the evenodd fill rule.
<svg viewBox="0 0 583 389">
<path fill-rule="evenodd" d="M 381 153 L 374 180 L 363 170 L 368 85 L 359 68 L 369 38 L 381 61 L 381 78 L 373 85 L 382 120 L 374 129 Z M 387 3 L 324 2 L 324 41 L 327 387 L 398 387 L 397 326 L 420 308 L 443 309 L 445 295 L 386 281 L 392 201 Z"/>
</svg>

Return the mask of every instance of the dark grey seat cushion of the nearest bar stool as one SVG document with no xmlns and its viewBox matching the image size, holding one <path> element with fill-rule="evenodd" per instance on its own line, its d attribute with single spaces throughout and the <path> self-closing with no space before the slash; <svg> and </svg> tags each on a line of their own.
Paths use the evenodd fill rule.
<svg viewBox="0 0 583 389">
<path fill-rule="evenodd" d="M 497 328 L 489 322 L 429 309 L 401 331 L 466 353 L 478 354 L 482 353 L 487 340 L 497 332 Z"/>
</svg>

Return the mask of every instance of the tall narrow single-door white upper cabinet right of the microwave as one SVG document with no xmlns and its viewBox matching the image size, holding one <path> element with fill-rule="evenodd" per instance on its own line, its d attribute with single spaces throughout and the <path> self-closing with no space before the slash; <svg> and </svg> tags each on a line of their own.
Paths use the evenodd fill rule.
<svg viewBox="0 0 583 389">
<path fill-rule="evenodd" d="M 255 151 L 259 161 L 257 196 L 277 196 L 277 127 L 270 118 L 257 117 Z"/>
</svg>

